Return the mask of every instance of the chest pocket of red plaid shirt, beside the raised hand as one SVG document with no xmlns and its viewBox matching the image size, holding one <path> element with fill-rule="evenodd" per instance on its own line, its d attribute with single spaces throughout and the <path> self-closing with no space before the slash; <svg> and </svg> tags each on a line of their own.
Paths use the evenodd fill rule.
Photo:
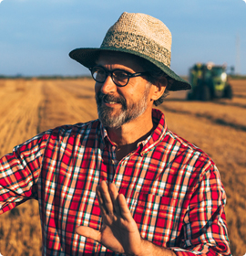
<svg viewBox="0 0 246 256">
<path fill-rule="evenodd" d="M 130 211 L 142 238 L 162 246 L 177 238 L 180 213 L 177 199 L 137 192 Z"/>
</svg>

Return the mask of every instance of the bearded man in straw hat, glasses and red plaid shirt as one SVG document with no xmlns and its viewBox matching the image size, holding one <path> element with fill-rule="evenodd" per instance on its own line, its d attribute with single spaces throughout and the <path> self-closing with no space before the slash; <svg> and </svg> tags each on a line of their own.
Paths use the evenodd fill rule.
<svg viewBox="0 0 246 256">
<path fill-rule="evenodd" d="M 70 57 L 96 80 L 99 119 L 49 130 L 1 159 L 1 211 L 39 201 L 43 255 L 230 255 L 225 192 L 208 155 L 153 110 L 190 89 L 158 19 L 123 13 Z"/>
</svg>

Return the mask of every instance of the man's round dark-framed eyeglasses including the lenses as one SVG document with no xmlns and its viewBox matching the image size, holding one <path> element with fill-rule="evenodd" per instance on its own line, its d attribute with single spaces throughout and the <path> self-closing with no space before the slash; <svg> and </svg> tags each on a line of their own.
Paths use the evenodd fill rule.
<svg viewBox="0 0 246 256">
<path fill-rule="evenodd" d="M 100 66 L 89 68 L 89 70 L 91 72 L 92 78 L 97 82 L 100 82 L 100 83 L 105 82 L 108 78 L 108 75 L 110 75 L 113 82 L 119 87 L 126 86 L 130 78 L 139 77 L 139 76 L 148 74 L 148 72 L 138 72 L 138 73 L 132 74 L 122 69 L 114 69 L 110 71 Z"/>
</svg>

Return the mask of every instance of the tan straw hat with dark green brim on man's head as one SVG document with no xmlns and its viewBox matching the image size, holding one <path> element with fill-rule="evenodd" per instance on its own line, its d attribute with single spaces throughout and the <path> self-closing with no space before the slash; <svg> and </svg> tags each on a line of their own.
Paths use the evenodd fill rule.
<svg viewBox="0 0 246 256">
<path fill-rule="evenodd" d="M 120 51 L 148 59 L 174 82 L 169 91 L 189 90 L 190 84 L 170 67 L 171 33 L 159 19 L 145 14 L 123 13 L 108 29 L 100 48 L 77 48 L 69 53 L 87 68 L 93 67 L 103 50 Z"/>
</svg>

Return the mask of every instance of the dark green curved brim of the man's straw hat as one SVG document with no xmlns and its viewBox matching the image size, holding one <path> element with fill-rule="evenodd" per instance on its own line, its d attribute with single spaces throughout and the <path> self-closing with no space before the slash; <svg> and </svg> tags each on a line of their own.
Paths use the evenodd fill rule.
<svg viewBox="0 0 246 256">
<path fill-rule="evenodd" d="M 143 59 L 148 59 L 151 63 L 156 65 L 159 69 L 165 72 L 174 82 L 171 84 L 169 91 L 180 91 L 180 90 L 190 90 L 191 86 L 190 83 L 186 80 L 180 78 L 174 71 L 169 69 L 168 66 L 164 65 L 163 63 L 159 62 L 156 59 L 152 59 L 149 56 L 136 52 L 130 49 L 124 48 L 76 48 L 69 53 L 69 57 L 71 59 L 77 60 L 80 64 L 87 68 L 91 68 L 96 65 L 96 61 L 99 57 L 100 52 L 102 51 L 120 51 L 125 52 L 128 54 L 136 55 Z"/>
</svg>

